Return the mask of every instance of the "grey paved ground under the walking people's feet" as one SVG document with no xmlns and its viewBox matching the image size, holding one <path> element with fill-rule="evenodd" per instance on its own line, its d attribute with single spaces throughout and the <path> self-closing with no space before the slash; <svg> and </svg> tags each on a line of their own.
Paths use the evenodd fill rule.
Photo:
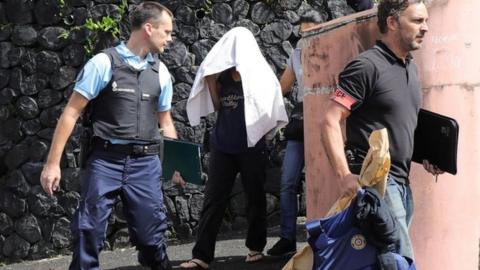
<svg viewBox="0 0 480 270">
<path fill-rule="evenodd" d="M 274 235 L 278 229 L 269 230 L 267 247 L 270 248 L 278 240 Z M 244 235 L 242 233 L 242 235 Z M 245 263 L 247 249 L 242 235 L 224 236 L 224 240 L 217 242 L 215 262 L 211 265 L 216 270 L 279 270 L 288 261 L 288 258 L 265 257 L 264 260 L 255 264 Z M 301 242 L 297 247 L 305 245 L 304 234 L 299 230 L 298 238 Z M 185 260 L 190 259 L 193 243 L 170 245 L 167 253 L 172 260 L 174 269 Z M 44 259 L 39 261 L 27 261 L 0 267 L 0 270 L 65 270 L 68 269 L 70 256 Z M 115 251 L 105 251 L 101 255 L 101 267 L 104 270 L 144 270 L 138 265 L 136 251 L 132 248 Z"/>
</svg>

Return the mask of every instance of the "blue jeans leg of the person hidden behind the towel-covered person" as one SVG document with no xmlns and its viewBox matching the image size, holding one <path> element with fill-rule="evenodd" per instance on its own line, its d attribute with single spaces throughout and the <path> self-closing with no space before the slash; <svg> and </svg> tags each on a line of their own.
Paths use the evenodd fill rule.
<svg viewBox="0 0 480 270">
<path fill-rule="evenodd" d="M 303 142 L 289 140 L 283 159 L 282 182 L 280 187 L 280 237 L 290 241 L 296 241 L 298 214 L 297 191 L 304 164 Z"/>
</svg>

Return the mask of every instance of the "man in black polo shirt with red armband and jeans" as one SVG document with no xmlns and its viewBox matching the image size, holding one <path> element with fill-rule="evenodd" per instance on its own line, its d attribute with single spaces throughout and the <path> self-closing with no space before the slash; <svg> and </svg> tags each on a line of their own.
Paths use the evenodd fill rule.
<svg viewBox="0 0 480 270">
<path fill-rule="evenodd" d="M 413 213 L 408 176 L 413 138 L 420 105 L 421 84 L 410 51 L 419 49 L 427 26 L 423 0 L 382 0 L 378 5 L 381 40 L 350 62 L 339 75 L 338 88 L 322 121 L 322 143 L 330 163 L 341 179 L 344 194 L 358 190 L 358 167 L 347 163 L 340 122 L 347 119 L 345 147 L 363 161 L 368 136 L 387 128 L 392 166 L 385 200 L 400 225 L 398 252 L 413 258 L 408 226 Z M 424 167 L 441 173 L 428 161 Z"/>
</svg>

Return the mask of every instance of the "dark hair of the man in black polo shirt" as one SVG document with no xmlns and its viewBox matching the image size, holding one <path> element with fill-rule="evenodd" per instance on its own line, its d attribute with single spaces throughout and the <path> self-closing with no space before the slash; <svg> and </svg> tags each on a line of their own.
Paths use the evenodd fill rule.
<svg viewBox="0 0 480 270">
<path fill-rule="evenodd" d="M 380 33 L 387 32 L 387 18 L 393 16 L 395 19 L 412 4 L 425 3 L 426 0 L 381 0 L 378 4 L 377 25 Z"/>
</svg>

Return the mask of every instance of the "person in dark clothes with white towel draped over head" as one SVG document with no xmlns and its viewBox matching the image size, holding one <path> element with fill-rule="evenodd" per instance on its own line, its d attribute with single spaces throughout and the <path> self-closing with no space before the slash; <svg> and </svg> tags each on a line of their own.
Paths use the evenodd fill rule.
<svg viewBox="0 0 480 270">
<path fill-rule="evenodd" d="M 191 125 L 218 112 L 210 136 L 205 199 L 192 259 L 182 269 L 209 269 L 215 242 L 237 173 L 246 197 L 246 262 L 263 258 L 266 245 L 264 190 L 266 135 L 284 126 L 287 113 L 280 83 L 246 28 L 228 31 L 210 50 L 197 72 L 187 102 Z"/>
</svg>

